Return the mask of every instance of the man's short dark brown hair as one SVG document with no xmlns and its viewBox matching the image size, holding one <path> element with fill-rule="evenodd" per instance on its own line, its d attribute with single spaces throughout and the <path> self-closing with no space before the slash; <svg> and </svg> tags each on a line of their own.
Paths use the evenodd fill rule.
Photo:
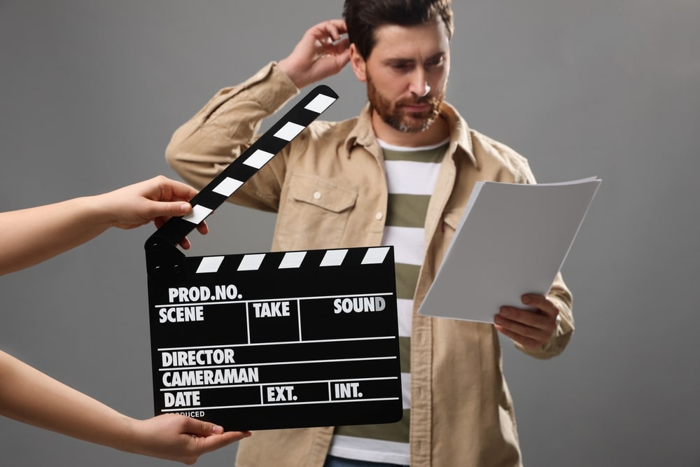
<svg viewBox="0 0 700 467">
<path fill-rule="evenodd" d="M 377 43 L 374 31 L 383 25 L 416 26 L 442 19 L 452 38 L 451 0 L 345 0 L 343 18 L 348 39 L 366 60 Z"/>
</svg>

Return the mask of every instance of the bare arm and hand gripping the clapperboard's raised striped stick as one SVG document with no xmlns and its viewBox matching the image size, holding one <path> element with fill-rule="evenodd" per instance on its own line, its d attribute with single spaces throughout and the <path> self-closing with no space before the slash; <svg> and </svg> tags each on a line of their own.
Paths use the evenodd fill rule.
<svg viewBox="0 0 700 467">
<path fill-rule="evenodd" d="M 160 227 L 171 216 L 187 214 L 197 190 L 156 176 L 102 195 L 0 213 L 0 275 L 48 260 L 97 237 L 110 227 Z M 197 230 L 207 232 L 202 223 Z M 187 249 L 190 242 L 183 239 Z"/>
</svg>

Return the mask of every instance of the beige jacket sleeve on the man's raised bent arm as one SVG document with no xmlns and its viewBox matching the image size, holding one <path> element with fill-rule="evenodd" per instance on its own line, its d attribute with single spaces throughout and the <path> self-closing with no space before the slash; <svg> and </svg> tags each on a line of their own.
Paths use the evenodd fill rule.
<svg viewBox="0 0 700 467">
<path fill-rule="evenodd" d="M 201 189 L 253 144 L 261 121 L 298 92 L 274 62 L 267 64 L 244 83 L 217 92 L 179 127 L 165 151 L 167 162 L 187 183 Z M 282 154 L 272 158 L 237 190 L 232 201 L 276 211 L 284 159 Z"/>
</svg>

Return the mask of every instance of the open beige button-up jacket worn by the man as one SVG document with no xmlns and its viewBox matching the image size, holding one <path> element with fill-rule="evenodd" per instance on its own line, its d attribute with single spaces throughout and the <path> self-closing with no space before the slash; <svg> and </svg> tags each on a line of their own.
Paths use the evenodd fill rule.
<svg viewBox="0 0 700 467">
<path fill-rule="evenodd" d="M 273 64 L 218 92 L 175 132 L 167 160 L 202 187 L 255 139 L 260 120 L 299 92 Z M 486 323 L 416 314 L 476 181 L 535 183 L 526 159 L 470 130 L 448 104 L 449 156 L 440 168 L 426 218 L 426 255 L 416 287 L 411 335 L 411 465 L 520 466 L 510 392 L 498 334 Z M 384 160 L 368 108 L 342 122 L 316 121 L 232 197 L 276 211 L 272 249 L 304 250 L 379 245 L 386 219 Z M 556 215 L 556 213 L 552 213 Z M 478 246 L 475 246 L 478 247 Z M 528 354 L 559 354 L 573 333 L 571 295 L 556 277 L 549 298 L 560 321 L 552 340 Z M 469 298 L 454 303 L 468 307 Z M 494 314 L 497 310 L 493 310 Z M 240 467 L 321 467 L 332 427 L 258 431 L 241 441 Z"/>
</svg>

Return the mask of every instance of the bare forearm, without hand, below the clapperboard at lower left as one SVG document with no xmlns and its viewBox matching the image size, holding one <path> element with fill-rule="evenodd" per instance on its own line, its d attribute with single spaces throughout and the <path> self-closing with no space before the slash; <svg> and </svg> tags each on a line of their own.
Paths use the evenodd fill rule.
<svg viewBox="0 0 700 467">
<path fill-rule="evenodd" d="M 0 352 L 1 414 L 88 442 L 127 449 L 129 417 Z"/>
</svg>

